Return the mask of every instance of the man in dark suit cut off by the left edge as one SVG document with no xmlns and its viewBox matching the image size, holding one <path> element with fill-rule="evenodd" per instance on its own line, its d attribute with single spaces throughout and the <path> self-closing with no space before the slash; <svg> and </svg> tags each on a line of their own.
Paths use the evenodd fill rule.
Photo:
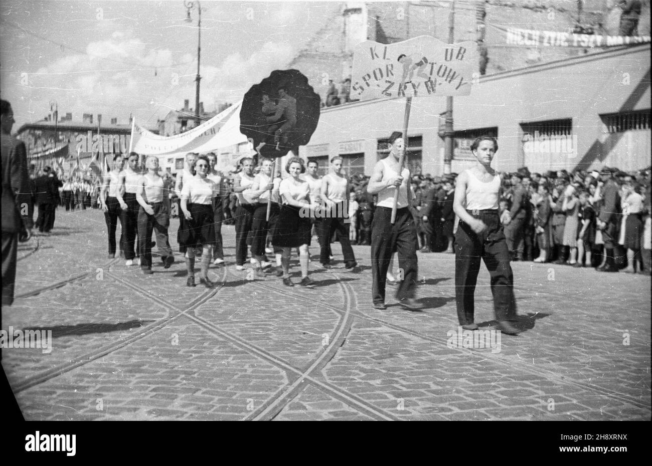
<svg viewBox="0 0 652 466">
<path fill-rule="evenodd" d="M 32 203 L 27 174 L 25 143 L 11 136 L 14 112 L 7 100 L 0 100 L 2 155 L 2 305 L 14 302 L 18 237 L 31 236 Z"/>
</svg>

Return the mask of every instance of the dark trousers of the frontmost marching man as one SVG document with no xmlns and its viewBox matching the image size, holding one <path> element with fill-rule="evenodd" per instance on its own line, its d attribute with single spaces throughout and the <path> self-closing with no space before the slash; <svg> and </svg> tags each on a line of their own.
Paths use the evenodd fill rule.
<svg viewBox="0 0 652 466">
<path fill-rule="evenodd" d="M 471 212 L 469 211 L 469 214 Z M 516 318 L 512 267 L 505 234 L 497 211 L 473 214 L 486 224 L 482 233 L 474 233 L 460 220 L 455 236 L 455 302 L 460 325 L 473 323 L 475 284 L 484 260 L 491 276 L 496 319 L 508 321 Z"/>
</svg>

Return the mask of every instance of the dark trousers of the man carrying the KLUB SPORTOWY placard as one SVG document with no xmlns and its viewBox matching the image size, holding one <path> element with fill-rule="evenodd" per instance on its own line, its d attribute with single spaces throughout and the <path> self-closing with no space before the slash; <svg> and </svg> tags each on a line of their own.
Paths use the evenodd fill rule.
<svg viewBox="0 0 652 466">
<path fill-rule="evenodd" d="M 408 207 L 396 210 L 396 222 L 391 224 L 392 209 L 376 207 L 371 229 L 372 299 L 374 304 L 385 302 L 387 269 L 394 251 L 398 253 L 398 267 L 403 270 L 396 299 L 414 296 L 417 285 L 417 228 Z"/>
</svg>

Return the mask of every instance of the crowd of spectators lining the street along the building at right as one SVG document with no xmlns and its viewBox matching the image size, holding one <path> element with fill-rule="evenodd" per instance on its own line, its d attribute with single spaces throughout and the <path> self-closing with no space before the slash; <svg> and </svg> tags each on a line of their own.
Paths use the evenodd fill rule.
<svg viewBox="0 0 652 466">
<path fill-rule="evenodd" d="M 604 222 L 600 218 L 607 212 L 618 219 L 614 252 L 617 269 L 650 274 L 650 168 L 635 172 L 604 167 L 600 171 L 530 173 L 522 167 L 500 175 L 501 222 L 513 261 L 604 270 Z M 351 201 L 357 201 L 349 211 L 351 239 L 359 244 L 368 244 L 366 232 L 373 219 L 374 199 L 366 194 L 368 179 L 363 175 L 349 179 Z M 421 252 L 454 252 L 455 179 L 456 173 L 412 177 L 416 196 L 411 210 L 419 233 L 415 247 Z M 615 196 L 605 193 L 608 180 L 617 186 Z M 606 267 L 606 271 L 612 270 Z"/>
</svg>

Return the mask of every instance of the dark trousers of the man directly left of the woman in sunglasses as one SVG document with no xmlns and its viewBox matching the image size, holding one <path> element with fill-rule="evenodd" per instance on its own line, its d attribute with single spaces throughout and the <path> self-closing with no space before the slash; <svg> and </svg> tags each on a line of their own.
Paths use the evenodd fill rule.
<svg viewBox="0 0 652 466">
<path fill-rule="evenodd" d="M 140 204 L 139 204 L 140 206 Z M 140 267 L 142 269 L 152 268 L 152 231 L 156 233 L 156 246 L 158 254 L 162 257 L 173 255 L 168 239 L 168 227 L 170 226 L 170 211 L 163 202 L 151 203 L 154 214 L 150 215 L 143 207 L 138 211 L 138 252 L 140 254 Z"/>
</svg>

